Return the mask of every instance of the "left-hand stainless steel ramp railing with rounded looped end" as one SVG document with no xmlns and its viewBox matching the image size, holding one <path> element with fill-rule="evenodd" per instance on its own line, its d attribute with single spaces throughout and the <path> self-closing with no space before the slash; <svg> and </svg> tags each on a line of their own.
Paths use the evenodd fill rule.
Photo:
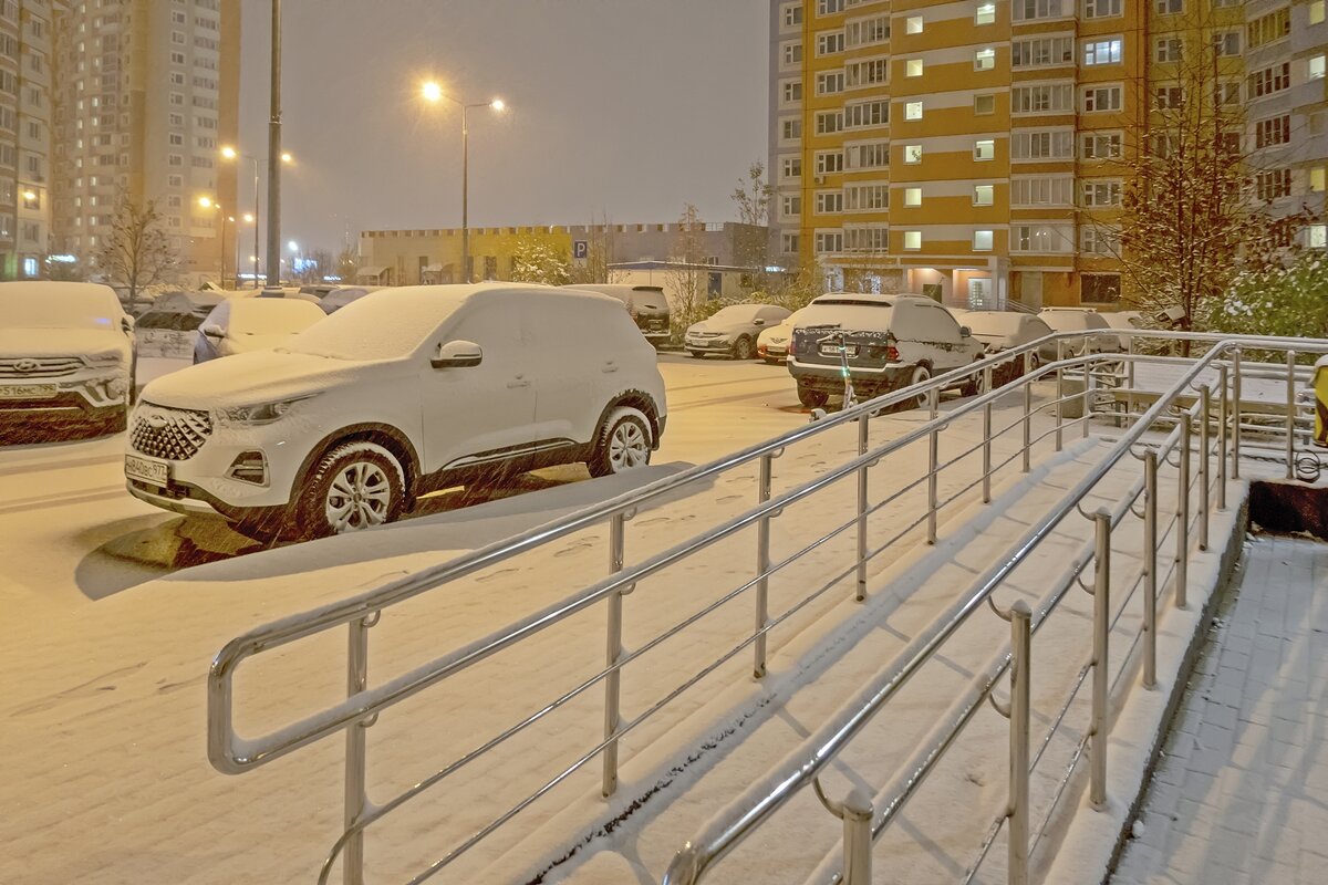
<svg viewBox="0 0 1328 885">
<path fill-rule="evenodd" d="M 1058 336 L 1058 338 L 1064 337 L 1073 337 L 1073 333 Z M 1163 333 L 1158 337 L 1165 338 L 1169 336 Z M 1174 338 L 1177 336 L 1173 334 L 1170 337 Z M 1193 338 L 1203 341 L 1210 340 L 1211 337 L 1206 338 L 1204 336 L 1193 336 Z M 1251 345 L 1259 344 L 1262 346 L 1263 344 L 1268 344 L 1268 340 L 1259 338 L 1250 340 L 1250 342 Z M 324 862 L 320 881 L 327 881 L 331 876 L 335 861 L 341 857 L 344 880 L 352 884 L 363 881 L 364 832 L 369 825 L 401 808 L 410 800 L 424 795 L 429 789 L 437 787 L 462 768 L 471 766 L 478 759 L 494 751 L 515 735 L 540 726 L 540 723 L 546 720 L 551 713 L 566 707 L 572 701 L 580 698 L 596 686 L 603 686 L 604 691 L 602 738 L 588 743 L 571 764 L 554 771 L 552 776 L 547 780 L 533 784 L 533 789 L 523 799 L 507 808 L 495 809 L 494 817 L 489 824 L 478 828 L 469 837 L 452 847 L 444 856 L 428 865 L 424 872 L 417 874 L 410 881 L 424 881 L 448 866 L 465 852 L 478 845 L 482 840 L 510 821 L 517 813 L 530 807 L 552 789 L 558 788 L 576 771 L 590 764 L 596 756 L 602 760 L 602 792 L 606 796 L 614 793 L 618 787 L 618 748 L 620 740 L 627 734 L 640 727 L 644 722 L 649 720 L 665 707 L 669 707 L 680 695 L 693 689 L 701 679 L 713 674 L 746 649 L 752 649 L 752 673 L 757 678 L 761 678 L 766 667 L 768 640 L 776 628 L 788 622 L 794 616 L 807 610 L 815 600 L 823 597 L 825 593 L 845 581 L 851 581 L 853 598 L 859 601 L 863 600 L 867 593 L 867 564 L 882 552 L 902 543 L 910 532 L 923 524 L 926 524 L 926 540 L 928 543 L 934 543 L 938 537 L 938 513 L 942 510 L 955 504 L 956 502 L 964 500 L 965 495 L 979 487 L 980 499 L 983 502 L 989 502 L 991 480 L 993 475 L 1012 464 L 1015 460 L 1021 460 L 1023 472 L 1028 472 L 1031 467 L 1031 451 L 1044 439 L 1054 437 L 1056 446 L 1060 448 L 1064 430 L 1076 423 L 1081 425 L 1084 435 L 1088 434 L 1088 422 L 1092 418 L 1088 405 L 1090 403 L 1094 383 L 1092 378 L 1097 374 L 1094 368 L 1101 366 L 1104 362 L 1102 357 L 1076 357 L 1052 366 L 1042 366 L 1036 372 L 1025 372 L 1023 377 L 1015 379 L 1004 389 L 992 390 L 992 375 L 997 366 L 1009 364 L 1012 360 L 1023 360 L 1027 370 L 1031 368 L 1031 354 L 1035 353 L 1041 344 L 1045 342 L 1027 345 L 1013 352 L 984 360 L 975 364 L 972 368 L 955 370 L 932 378 L 923 385 L 907 387 L 886 397 L 880 397 L 870 403 L 847 409 L 839 414 L 827 417 L 823 421 L 784 434 L 766 443 L 752 446 L 710 464 L 693 467 L 679 475 L 651 483 L 649 486 L 631 494 L 622 495 L 602 504 L 595 504 L 567 517 L 530 529 L 509 540 L 490 544 L 444 565 L 421 571 L 400 581 L 386 584 L 368 593 L 363 593 L 332 605 L 282 618 L 251 630 L 244 636 L 236 637 L 218 653 L 208 677 L 208 758 L 211 763 L 219 771 L 226 774 L 242 774 L 291 754 L 300 747 L 305 747 L 344 731 L 344 832 L 333 844 L 333 848 Z M 1143 357 L 1122 354 L 1112 357 L 1112 360 L 1125 362 L 1133 370 L 1134 362 L 1137 360 L 1143 360 Z M 1235 362 L 1234 365 L 1236 366 L 1236 375 L 1239 377 L 1239 362 Z M 959 405 L 951 411 L 940 414 L 940 390 L 954 386 L 959 381 L 971 377 L 975 372 L 980 372 L 983 374 L 985 382 L 984 390 L 987 390 L 987 393 L 971 398 L 968 402 Z M 1066 393 L 1066 374 L 1074 372 L 1080 372 L 1085 377 L 1084 390 Z M 1033 381 L 1037 378 L 1050 377 L 1057 379 L 1057 395 L 1052 401 L 1042 402 L 1035 407 L 1032 394 Z M 1013 391 L 1023 393 L 1021 415 L 1007 426 L 999 430 L 992 430 L 993 403 Z M 919 394 L 928 395 L 931 419 L 918 427 L 914 427 L 896 439 L 872 447 L 870 439 L 870 419 L 882 410 L 896 403 L 912 401 Z M 1078 419 L 1066 421 L 1062 414 L 1062 407 L 1074 401 L 1080 401 L 1080 403 L 1084 405 L 1084 414 Z M 1226 402 L 1226 398 L 1223 398 L 1223 402 Z M 1050 417 L 1044 415 L 1044 413 L 1048 411 L 1054 413 L 1054 425 L 1050 429 L 1042 430 L 1035 435 L 1035 418 L 1050 419 Z M 1151 411 L 1157 411 L 1157 407 Z M 1239 409 L 1235 411 L 1236 415 L 1239 415 Z M 942 433 L 952 423 L 979 413 L 983 419 L 983 434 L 980 442 L 969 446 L 967 450 L 942 463 L 939 451 Z M 809 482 L 797 484 L 780 495 L 774 495 L 772 492 L 773 462 L 785 450 L 825 434 L 835 427 L 841 427 L 849 422 L 855 422 L 858 429 L 857 458 L 833 467 Z M 1135 423 L 1135 429 L 1139 425 Z M 1239 419 L 1235 422 L 1235 427 L 1240 427 Z M 1131 430 L 1130 433 L 1134 431 Z M 1000 460 L 995 460 L 993 455 L 996 452 L 993 450 L 997 441 L 1007 439 L 1008 437 L 1016 434 L 1017 447 L 1012 451 L 1012 454 L 1005 455 Z M 1219 437 L 1226 441 L 1224 435 L 1219 434 Z M 869 500 L 870 471 L 882 460 L 888 459 L 892 454 L 912 443 L 923 441 L 926 441 L 928 446 L 927 472 L 923 476 L 904 484 L 902 488 L 894 490 L 892 494 L 887 495 L 880 502 L 871 504 Z M 946 471 L 954 471 L 956 464 L 964 462 L 965 459 L 971 459 L 979 452 L 981 455 L 981 468 L 977 478 L 961 484 L 959 491 L 951 494 L 946 499 L 942 499 L 939 476 Z M 704 532 L 668 551 L 663 551 L 655 556 L 641 560 L 640 563 L 627 565 L 624 556 L 625 527 L 641 507 L 663 500 L 664 496 L 676 494 L 679 490 L 691 484 L 712 480 L 717 476 L 734 471 L 738 467 L 750 464 L 752 462 L 757 462 L 756 466 L 758 471 L 756 490 L 757 506 L 754 508 L 748 510 L 718 525 L 706 527 Z M 809 539 L 806 544 L 799 547 L 791 555 L 780 559 L 778 561 L 773 560 L 770 552 L 772 520 L 778 519 L 778 516 L 788 507 L 807 500 L 841 480 L 850 479 L 857 482 L 857 512 L 854 512 L 850 519 L 837 524 L 829 532 Z M 879 512 L 883 507 L 898 502 L 910 491 L 922 487 L 926 487 L 927 506 L 918 519 L 914 520 L 907 528 L 894 535 L 884 544 L 871 549 L 867 541 L 867 528 L 871 516 Z M 560 602 L 554 604 L 542 612 L 537 612 L 529 617 L 509 624 L 487 637 L 437 657 L 433 661 L 414 667 L 413 670 L 396 678 L 386 679 L 380 685 L 369 687 L 367 673 L 371 629 L 378 622 L 378 618 L 385 609 L 418 597 L 422 593 L 450 585 L 467 576 L 475 575 L 482 569 L 491 568 L 501 563 L 507 563 L 514 557 L 542 548 L 559 539 L 568 537 L 575 532 L 606 524 L 608 527 L 608 560 L 611 572 L 608 577 L 586 586 L 584 589 L 563 598 Z M 724 593 L 703 609 L 667 625 L 665 629 L 663 629 L 657 636 L 639 647 L 627 651 L 622 641 L 624 597 L 631 593 L 640 581 L 648 579 L 649 576 L 683 563 L 688 560 L 688 557 L 710 548 L 717 541 L 732 537 L 745 529 L 754 529 L 756 532 L 757 543 L 754 577 Z M 784 612 L 772 616 L 769 612 L 768 593 L 770 577 L 789 568 L 793 563 L 801 560 L 811 551 L 821 548 L 830 540 L 850 531 L 855 531 L 857 533 L 857 553 L 851 557 L 851 561 L 846 564 L 846 568 L 838 573 L 827 576 L 825 581 L 817 582 L 805 596 L 789 605 Z M 733 642 L 732 645 L 716 649 L 716 657 L 701 665 L 695 674 L 651 703 L 640 715 L 633 719 L 624 720 L 620 713 L 623 669 L 632 661 L 639 659 L 649 650 L 657 647 L 660 644 L 696 625 L 700 620 L 716 612 L 718 608 L 744 596 L 750 596 L 753 601 L 754 617 L 750 633 L 740 636 L 736 642 L 733 642 L 730 637 L 729 642 Z M 420 780 L 417 784 L 396 793 L 389 800 L 382 803 L 369 800 L 367 789 L 367 738 L 369 735 L 369 728 L 377 722 L 381 713 L 390 710 L 396 705 L 420 694 L 425 689 L 436 686 L 450 677 L 458 675 L 481 661 L 485 661 L 505 649 L 518 646 L 519 644 L 537 637 L 555 624 L 564 622 L 567 618 L 599 604 L 604 604 L 606 606 L 606 663 L 603 669 L 588 673 L 586 678 L 576 683 L 572 689 L 547 698 L 538 706 L 535 713 L 517 718 L 515 722 L 491 739 L 456 758 L 446 766 L 436 770 L 428 778 Z M 325 707 L 313 715 L 291 722 L 271 734 L 258 738 L 239 736 L 234 728 L 234 678 L 242 662 L 256 654 L 271 651 L 297 640 L 312 637 L 340 626 L 348 628 L 345 699 L 340 703 Z"/>
</svg>

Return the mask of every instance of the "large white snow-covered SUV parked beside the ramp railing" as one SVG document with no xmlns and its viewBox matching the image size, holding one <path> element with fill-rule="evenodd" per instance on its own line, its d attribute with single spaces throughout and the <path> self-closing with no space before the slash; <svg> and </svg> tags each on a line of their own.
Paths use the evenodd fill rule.
<svg viewBox="0 0 1328 885">
<path fill-rule="evenodd" d="M 275 350 L 158 378 L 130 418 L 129 491 L 251 535 L 397 519 L 421 494 L 586 462 L 647 464 L 655 349 L 622 301 L 542 285 L 382 289 Z"/>
</svg>

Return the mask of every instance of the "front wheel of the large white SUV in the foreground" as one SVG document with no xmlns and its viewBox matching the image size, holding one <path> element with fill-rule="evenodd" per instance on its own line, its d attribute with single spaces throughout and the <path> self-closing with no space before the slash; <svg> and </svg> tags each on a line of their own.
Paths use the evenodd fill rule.
<svg viewBox="0 0 1328 885">
<path fill-rule="evenodd" d="M 405 475 L 382 446 L 352 442 L 319 460 L 300 496 L 299 521 L 311 537 L 347 535 L 401 516 Z"/>
</svg>

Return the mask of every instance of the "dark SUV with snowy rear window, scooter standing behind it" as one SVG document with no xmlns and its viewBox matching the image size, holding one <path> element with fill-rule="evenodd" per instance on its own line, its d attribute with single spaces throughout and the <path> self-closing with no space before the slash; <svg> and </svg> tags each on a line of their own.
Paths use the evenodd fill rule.
<svg viewBox="0 0 1328 885">
<path fill-rule="evenodd" d="M 863 398 L 927 381 L 983 357 L 983 345 L 934 300 L 911 295 L 822 295 L 805 308 L 793 330 L 789 374 L 798 382 L 798 401 L 823 406 L 843 393 L 847 366 Z M 979 390 L 980 375 L 956 382 L 963 393 Z M 926 405 L 926 395 L 918 405 Z"/>
</svg>

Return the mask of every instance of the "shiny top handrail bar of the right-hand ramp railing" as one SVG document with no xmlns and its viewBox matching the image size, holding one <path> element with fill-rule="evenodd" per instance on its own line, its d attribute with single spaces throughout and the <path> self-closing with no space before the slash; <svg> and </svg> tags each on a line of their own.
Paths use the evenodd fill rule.
<svg viewBox="0 0 1328 885">
<path fill-rule="evenodd" d="M 1208 340 L 1210 336 L 1197 336 L 1195 333 L 1163 333 L 1158 337 L 1174 337 L 1179 340 Z M 1211 336 L 1216 337 L 1216 336 Z M 1035 524 L 1013 547 L 1013 553 L 991 567 L 976 582 L 975 590 L 954 604 L 934 625 L 923 632 L 918 638 L 896 655 L 896 661 L 903 663 L 880 683 L 869 686 L 851 702 L 843 705 L 841 715 L 810 735 L 803 744 L 790 754 L 785 764 L 777 767 L 770 776 L 753 784 L 741 797 L 729 805 L 729 811 L 721 813 L 705 827 L 703 833 L 688 841 L 676 854 L 664 877 L 664 885 L 695 885 L 700 881 L 705 870 L 728 854 L 740 841 L 742 841 L 757 825 L 770 815 L 784 807 L 802 788 L 813 784 L 821 771 L 838 756 L 853 738 L 875 716 L 875 714 L 912 678 L 914 674 L 932 658 L 959 626 L 977 610 L 984 601 L 1000 586 L 1017 565 L 1025 561 L 1029 555 L 1048 537 L 1052 531 L 1080 504 L 1082 498 L 1093 490 L 1130 450 L 1138 443 L 1153 423 L 1166 414 L 1171 402 L 1195 382 L 1199 374 L 1211 364 L 1216 362 L 1227 350 L 1239 352 L 1243 346 L 1266 346 L 1268 349 L 1282 349 L 1288 345 L 1288 340 L 1258 338 L 1254 344 L 1244 337 L 1216 337 L 1214 346 L 1203 357 L 1191 361 L 1190 369 L 1179 379 L 1163 391 L 1154 405 L 1147 409 L 1139 421 L 1134 423 L 1116 443 L 1112 451 L 1100 460 L 1086 476 L 1084 476 L 1037 524 Z M 1296 349 L 1325 350 L 1328 341 L 1295 341 Z M 1121 356 L 1134 354 L 1101 354 L 1104 358 L 1116 360 Z M 1053 364 L 1058 365 L 1058 364 Z M 1189 488 L 1189 487 L 1187 487 Z M 1183 561 L 1183 560 L 1182 560 Z M 967 722 L 967 718 L 964 718 Z M 947 732 L 944 746 L 932 747 L 931 755 L 924 758 L 935 760 L 936 754 L 954 740 L 963 723 Z M 926 770 L 919 768 L 911 780 L 886 801 L 886 813 L 880 828 L 872 827 L 872 837 L 883 829 L 888 819 L 902 807 L 903 800 L 916 788 L 920 778 L 926 776 Z"/>
</svg>

